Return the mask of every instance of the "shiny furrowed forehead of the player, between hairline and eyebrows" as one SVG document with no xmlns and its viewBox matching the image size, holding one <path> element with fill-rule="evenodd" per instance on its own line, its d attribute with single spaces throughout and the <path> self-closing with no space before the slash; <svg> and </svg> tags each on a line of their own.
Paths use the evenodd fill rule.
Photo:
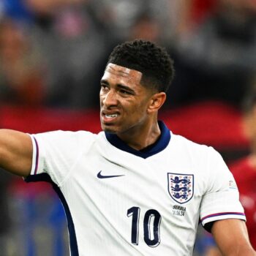
<svg viewBox="0 0 256 256">
<path fill-rule="evenodd" d="M 134 80 L 134 82 L 140 83 L 142 78 L 142 72 L 135 69 L 128 69 L 113 63 L 109 63 L 105 69 L 103 78 L 113 76 L 116 78 L 123 78 L 124 80 Z"/>
</svg>

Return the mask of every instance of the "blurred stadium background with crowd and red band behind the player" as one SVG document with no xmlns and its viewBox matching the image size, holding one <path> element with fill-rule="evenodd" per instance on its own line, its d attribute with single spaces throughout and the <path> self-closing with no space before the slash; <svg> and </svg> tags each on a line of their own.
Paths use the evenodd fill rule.
<svg viewBox="0 0 256 256">
<path fill-rule="evenodd" d="M 241 106 L 256 86 L 253 0 L 0 0 L 1 127 L 99 132 L 105 62 L 135 38 L 175 61 L 161 112 L 170 129 L 214 146 L 228 164 L 248 154 Z M 205 237 L 200 230 L 197 256 L 206 255 Z M 1 255 L 68 255 L 64 212 L 48 184 L 0 173 Z"/>
</svg>

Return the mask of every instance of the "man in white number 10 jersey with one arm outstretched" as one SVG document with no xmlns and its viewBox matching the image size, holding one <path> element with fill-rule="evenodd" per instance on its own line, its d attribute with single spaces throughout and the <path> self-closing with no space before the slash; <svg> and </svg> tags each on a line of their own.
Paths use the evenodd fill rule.
<svg viewBox="0 0 256 256">
<path fill-rule="evenodd" d="M 104 132 L 0 132 L 1 167 L 53 183 L 72 256 L 192 255 L 199 219 L 224 255 L 255 255 L 222 157 L 157 121 L 172 78 L 165 50 L 125 42 L 101 80 Z"/>
</svg>

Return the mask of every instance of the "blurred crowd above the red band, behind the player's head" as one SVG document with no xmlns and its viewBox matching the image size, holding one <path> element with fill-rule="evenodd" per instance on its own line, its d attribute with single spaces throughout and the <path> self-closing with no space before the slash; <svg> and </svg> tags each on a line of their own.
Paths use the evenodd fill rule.
<svg viewBox="0 0 256 256">
<path fill-rule="evenodd" d="M 166 107 L 239 108 L 255 82 L 255 13 L 252 0 L 1 0 L 1 103 L 97 108 L 110 51 L 143 38 L 175 60 Z"/>
</svg>

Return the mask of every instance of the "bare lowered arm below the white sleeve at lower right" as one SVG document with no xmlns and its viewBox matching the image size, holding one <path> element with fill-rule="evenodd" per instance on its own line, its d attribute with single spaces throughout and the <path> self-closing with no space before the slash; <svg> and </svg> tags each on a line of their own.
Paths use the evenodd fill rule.
<svg viewBox="0 0 256 256">
<path fill-rule="evenodd" d="M 245 222 L 241 219 L 218 220 L 211 227 L 211 233 L 222 255 L 256 255 L 249 242 Z"/>
</svg>

